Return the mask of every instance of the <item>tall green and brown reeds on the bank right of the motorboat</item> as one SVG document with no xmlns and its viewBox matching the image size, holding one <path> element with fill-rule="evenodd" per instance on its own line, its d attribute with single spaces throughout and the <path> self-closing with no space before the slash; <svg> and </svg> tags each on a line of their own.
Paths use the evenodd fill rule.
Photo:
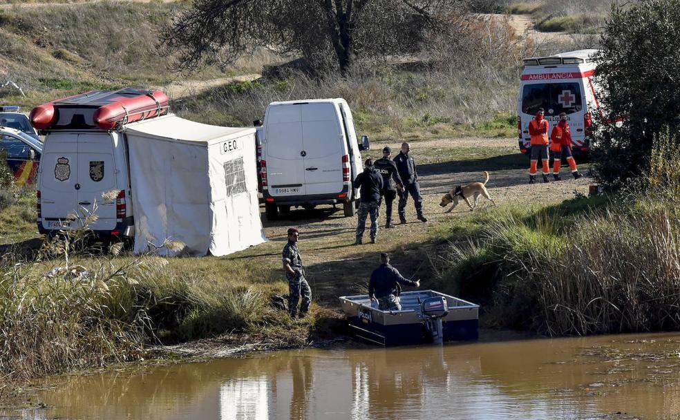
<svg viewBox="0 0 680 420">
<path fill-rule="evenodd" d="M 627 198 L 595 209 L 578 198 L 580 214 L 492 211 L 448 246 L 438 281 L 485 303 L 498 327 L 551 336 L 677 330 L 680 207 Z"/>
</svg>

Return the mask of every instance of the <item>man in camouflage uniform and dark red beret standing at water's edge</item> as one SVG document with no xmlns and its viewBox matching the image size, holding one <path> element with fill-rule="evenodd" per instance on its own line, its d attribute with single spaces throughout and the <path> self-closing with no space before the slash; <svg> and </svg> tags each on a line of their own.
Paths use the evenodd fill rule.
<svg viewBox="0 0 680 420">
<path fill-rule="evenodd" d="M 288 279 L 288 311 L 290 317 L 295 318 L 297 304 L 302 296 L 300 304 L 300 318 L 304 318 L 310 310 L 312 302 L 312 289 L 305 280 L 305 269 L 302 267 L 302 258 L 297 249 L 297 240 L 300 236 L 298 229 L 288 229 L 288 243 L 283 247 L 283 270 Z"/>
</svg>

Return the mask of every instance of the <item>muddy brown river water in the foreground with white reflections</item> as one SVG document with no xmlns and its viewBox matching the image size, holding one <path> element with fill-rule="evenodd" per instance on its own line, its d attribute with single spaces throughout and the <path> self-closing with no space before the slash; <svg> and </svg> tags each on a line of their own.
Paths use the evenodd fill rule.
<svg viewBox="0 0 680 420">
<path fill-rule="evenodd" d="M 51 379 L 24 419 L 680 418 L 680 334 L 292 350 Z M 0 416 L 1 417 L 1 416 Z"/>
</svg>

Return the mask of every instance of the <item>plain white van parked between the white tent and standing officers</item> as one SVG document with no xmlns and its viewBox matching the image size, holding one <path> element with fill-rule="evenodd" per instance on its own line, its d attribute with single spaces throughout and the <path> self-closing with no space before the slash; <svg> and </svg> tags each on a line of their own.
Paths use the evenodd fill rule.
<svg viewBox="0 0 680 420">
<path fill-rule="evenodd" d="M 272 102 L 258 130 L 261 185 L 267 218 L 291 206 L 343 204 L 354 216 L 359 191 L 352 188 L 363 169 L 361 151 L 368 137 L 357 139 L 345 99 Z"/>
</svg>

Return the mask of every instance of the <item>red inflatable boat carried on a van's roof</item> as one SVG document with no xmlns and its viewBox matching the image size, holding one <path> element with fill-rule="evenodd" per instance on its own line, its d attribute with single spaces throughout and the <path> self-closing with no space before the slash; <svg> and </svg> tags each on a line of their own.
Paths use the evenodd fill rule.
<svg viewBox="0 0 680 420">
<path fill-rule="evenodd" d="M 160 90 L 125 88 L 93 90 L 33 108 L 31 124 L 39 129 L 96 128 L 113 130 L 129 122 L 165 115 L 169 99 Z"/>
</svg>

